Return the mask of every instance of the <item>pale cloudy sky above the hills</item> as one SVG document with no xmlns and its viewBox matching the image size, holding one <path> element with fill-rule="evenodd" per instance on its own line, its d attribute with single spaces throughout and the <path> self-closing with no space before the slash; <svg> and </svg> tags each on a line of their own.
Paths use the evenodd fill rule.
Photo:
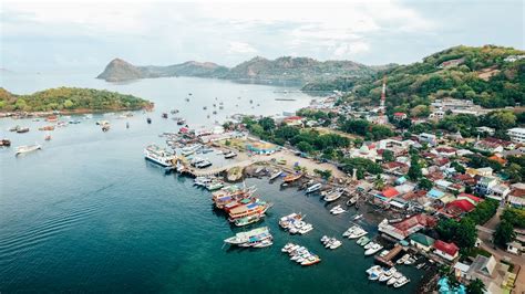
<svg viewBox="0 0 525 294">
<path fill-rule="evenodd" d="M 2 0 L 0 67 L 103 69 L 254 56 L 406 64 L 454 45 L 525 48 L 524 1 Z"/>
</svg>

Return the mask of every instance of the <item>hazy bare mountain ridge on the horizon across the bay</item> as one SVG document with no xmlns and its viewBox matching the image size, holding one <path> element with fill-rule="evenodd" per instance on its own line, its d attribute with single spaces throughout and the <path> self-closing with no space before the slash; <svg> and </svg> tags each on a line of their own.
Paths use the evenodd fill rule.
<svg viewBox="0 0 525 294">
<path fill-rule="evenodd" d="M 309 57 L 291 56 L 276 60 L 257 56 L 231 69 L 212 62 L 195 61 L 167 66 L 136 66 L 121 59 L 114 59 L 97 78 L 107 82 L 123 82 L 165 76 L 197 76 L 264 84 L 290 82 L 302 85 L 338 76 L 370 76 L 377 69 L 373 66 L 352 61 L 320 62 Z"/>
</svg>

